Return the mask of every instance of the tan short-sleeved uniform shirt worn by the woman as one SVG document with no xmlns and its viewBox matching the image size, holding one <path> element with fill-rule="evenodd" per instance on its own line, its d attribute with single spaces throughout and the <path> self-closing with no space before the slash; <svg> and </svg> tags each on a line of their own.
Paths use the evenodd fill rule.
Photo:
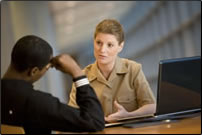
<svg viewBox="0 0 202 135">
<path fill-rule="evenodd" d="M 117 111 L 114 107 L 115 100 L 128 112 L 143 105 L 155 103 L 142 66 L 137 62 L 117 57 L 115 67 L 108 80 L 98 69 L 97 62 L 88 65 L 84 71 L 102 104 L 105 116 Z M 76 89 L 73 85 L 69 105 L 78 107 L 75 95 Z"/>
</svg>

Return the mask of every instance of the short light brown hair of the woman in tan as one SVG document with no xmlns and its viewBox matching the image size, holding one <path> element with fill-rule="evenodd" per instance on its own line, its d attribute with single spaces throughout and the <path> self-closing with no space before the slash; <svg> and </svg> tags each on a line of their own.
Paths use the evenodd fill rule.
<svg viewBox="0 0 202 135">
<path fill-rule="evenodd" d="M 119 44 L 124 41 L 124 31 L 121 24 L 114 19 L 105 19 L 101 21 L 97 26 L 94 33 L 94 39 L 98 33 L 112 34 L 116 37 Z"/>
</svg>

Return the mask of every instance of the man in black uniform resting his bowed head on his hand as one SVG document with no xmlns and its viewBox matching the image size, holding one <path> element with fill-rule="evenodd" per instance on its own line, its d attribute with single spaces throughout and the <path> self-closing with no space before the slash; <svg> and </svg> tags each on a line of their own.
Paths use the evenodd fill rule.
<svg viewBox="0 0 202 135">
<path fill-rule="evenodd" d="M 25 133 L 102 130 L 104 114 L 88 79 L 69 55 L 52 55 L 51 46 L 39 37 L 29 35 L 17 41 L 11 64 L 1 80 L 2 124 L 22 126 Z M 80 109 L 61 103 L 51 94 L 34 90 L 32 84 L 49 67 L 73 77 Z"/>
</svg>

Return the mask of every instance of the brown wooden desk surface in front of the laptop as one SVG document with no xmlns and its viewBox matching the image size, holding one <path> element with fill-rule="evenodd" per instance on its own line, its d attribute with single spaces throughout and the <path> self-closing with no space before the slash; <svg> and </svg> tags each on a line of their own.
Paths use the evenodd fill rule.
<svg viewBox="0 0 202 135">
<path fill-rule="evenodd" d="M 96 134 L 201 134 L 201 115 L 139 128 L 110 127 Z"/>
</svg>

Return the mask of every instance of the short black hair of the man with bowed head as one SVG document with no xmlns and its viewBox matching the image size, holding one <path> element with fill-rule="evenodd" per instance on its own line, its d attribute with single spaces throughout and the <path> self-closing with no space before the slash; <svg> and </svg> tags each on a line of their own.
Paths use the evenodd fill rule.
<svg viewBox="0 0 202 135">
<path fill-rule="evenodd" d="M 29 68 L 38 67 L 40 70 L 46 66 L 53 55 L 53 49 L 42 38 L 28 35 L 20 38 L 13 47 L 11 64 L 23 72 Z"/>
</svg>

